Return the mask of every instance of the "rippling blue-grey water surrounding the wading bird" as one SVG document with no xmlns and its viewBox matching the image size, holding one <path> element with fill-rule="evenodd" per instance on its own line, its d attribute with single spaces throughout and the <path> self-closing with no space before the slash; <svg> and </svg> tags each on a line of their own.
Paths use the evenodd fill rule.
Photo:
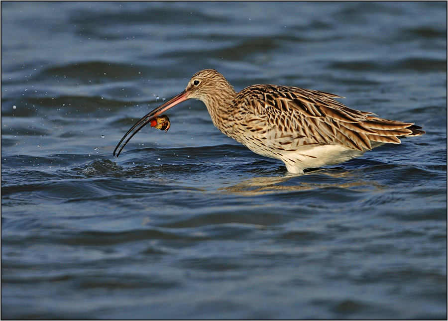
<svg viewBox="0 0 448 321">
<path fill-rule="evenodd" d="M 445 2 L 2 2 L 2 319 L 446 319 Z M 288 175 L 205 106 L 214 68 L 424 127 Z"/>
</svg>

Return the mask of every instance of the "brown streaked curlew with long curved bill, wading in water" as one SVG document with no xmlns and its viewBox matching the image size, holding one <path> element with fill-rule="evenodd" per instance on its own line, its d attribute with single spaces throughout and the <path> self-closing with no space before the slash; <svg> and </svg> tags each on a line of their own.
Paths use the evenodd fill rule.
<svg viewBox="0 0 448 321">
<path fill-rule="evenodd" d="M 254 153 L 281 160 L 296 174 L 342 163 L 382 144 L 399 144 L 402 137 L 425 133 L 414 123 L 346 107 L 335 100 L 343 97 L 325 92 L 253 85 L 236 93 L 223 75 L 205 69 L 191 78 L 182 93 L 137 121 L 113 155 L 126 137 L 117 157 L 143 126 L 153 119 L 159 121 L 160 114 L 192 98 L 204 102 L 213 123 L 225 135 Z"/>
</svg>

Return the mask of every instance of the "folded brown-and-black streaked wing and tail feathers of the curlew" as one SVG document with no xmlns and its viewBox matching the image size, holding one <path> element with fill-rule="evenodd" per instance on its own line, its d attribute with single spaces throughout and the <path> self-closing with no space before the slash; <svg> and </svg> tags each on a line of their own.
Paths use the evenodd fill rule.
<svg viewBox="0 0 448 321">
<path fill-rule="evenodd" d="M 290 141 L 292 147 L 337 144 L 359 151 L 371 149 L 371 141 L 400 143 L 398 137 L 424 133 L 413 123 L 382 119 L 346 107 L 335 98 L 343 97 L 295 87 L 253 85 L 234 100 L 235 126 L 251 119 L 251 130 L 258 128 L 260 135 L 283 133 L 272 138 L 281 148 Z"/>
</svg>

